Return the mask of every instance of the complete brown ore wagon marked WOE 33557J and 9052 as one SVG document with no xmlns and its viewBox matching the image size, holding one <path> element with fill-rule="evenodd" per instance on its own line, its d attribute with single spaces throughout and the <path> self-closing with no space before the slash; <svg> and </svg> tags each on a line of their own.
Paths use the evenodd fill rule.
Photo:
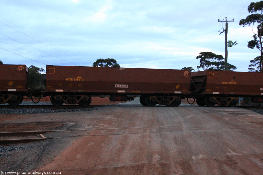
<svg viewBox="0 0 263 175">
<path fill-rule="evenodd" d="M 53 105 L 87 106 L 91 96 L 109 95 L 111 101 L 140 96 L 146 106 L 178 106 L 190 95 L 190 72 L 185 70 L 47 65 L 44 96 Z"/>
</svg>

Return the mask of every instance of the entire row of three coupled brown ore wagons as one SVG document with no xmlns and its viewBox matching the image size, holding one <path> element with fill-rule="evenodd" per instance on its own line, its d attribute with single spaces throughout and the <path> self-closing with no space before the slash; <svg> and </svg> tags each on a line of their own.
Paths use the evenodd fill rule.
<svg viewBox="0 0 263 175">
<path fill-rule="evenodd" d="M 263 74 L 146 68 L 52 66 L 46 68 L 44 91 L 28 88 L 26 65 L 0 65 L 0 104 L 19 105 L 23 96 L 50 96 L 53 105 L 87 106 L 92 96 L 110 101 L 140 96 L 145 106 L 179 106 L 181 99 L 194 98 L 200 106 L 237 104 L 237 97 L 263 102 Z M 32 94 L 33 93 L 33 94 Z"/>
</svg>

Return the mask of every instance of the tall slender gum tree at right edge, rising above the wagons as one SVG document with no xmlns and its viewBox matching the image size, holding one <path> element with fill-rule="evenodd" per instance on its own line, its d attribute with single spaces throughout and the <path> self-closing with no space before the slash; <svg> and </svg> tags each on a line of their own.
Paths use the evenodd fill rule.
<svg viewBox="0 0 263 175">
<path fill-rule="evenodd" d="M 247 11 L 249 13 L 253 13 L 248 15 L 246 19 L 241 19 L 239 21 L 239 25 L 250 26 L 254 35 L 252 36 L 252 40 L 248 42 L 247 47 L 250 49 L 254 49 L 255 47 L 260 50 L 260 60 L 259 60 L 259 71 L 262 72 L 263 64 L 262 64 L 262 42 L 263 42 L 263 1 L 260 2 L 251 2 L 247 7 Z M 253 27 L 255 24 L 257 25 L 257 33 L 254 32 Z"/>
</svg>

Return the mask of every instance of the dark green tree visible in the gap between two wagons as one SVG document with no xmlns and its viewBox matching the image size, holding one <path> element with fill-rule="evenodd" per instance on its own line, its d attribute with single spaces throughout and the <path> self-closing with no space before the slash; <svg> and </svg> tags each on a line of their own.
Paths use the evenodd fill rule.
<svg viewBox="0 0 263 175">
<path fill-rule="evenodd" d="M 41 74 L 41 72 L 44 72 L 43 68 L 39 68 L 36 66 L 29 66 L 28 68 L 28 86 L 31 88 L 31 90 L 35 89 L 41 89 L 43 88 L 43 81 L 45 79 L 45 74 Z"/>
</svg>

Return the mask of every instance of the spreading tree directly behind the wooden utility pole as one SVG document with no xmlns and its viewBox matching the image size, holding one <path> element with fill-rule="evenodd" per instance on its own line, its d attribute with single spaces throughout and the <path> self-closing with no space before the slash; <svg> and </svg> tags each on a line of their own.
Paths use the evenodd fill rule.
<svg viewBox="0 0 263 175">
<path fill-rule="evenodd" d="M 215 71 L 224 71 L 225 70 L 225 62 L 224 57 L 222 55 L 216 55 L 212 52 L 201 52 L 196 59 L 200 59 L 200 63 L 197 66 L 198 71 L 202 68 L 205 70 L 215 70 Z M 233 66 L 227 63 L 227 70 L 233 71 L 236 69 L 236 66 Z"/>
</svg>

